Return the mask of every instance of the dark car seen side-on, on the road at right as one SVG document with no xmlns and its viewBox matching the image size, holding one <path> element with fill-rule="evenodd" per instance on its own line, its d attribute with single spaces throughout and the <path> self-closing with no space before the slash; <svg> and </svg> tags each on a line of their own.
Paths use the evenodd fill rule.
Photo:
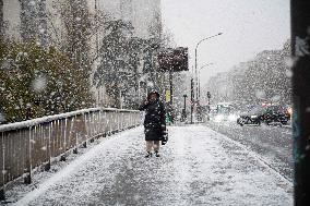
<svg viewBox="0 0 310 206">
<path fill-rule="evenodd" d="M 240 125 L 245 124 L 258 124 L 261 122 L 266 124 L 271 124 L 273 122 L 287 124 L 290 119 L 289 112 L 284 107 L 281 106 L 267 106 L 255 107 L 248 111 L 247 113 L 242 113 L 238 119 L 237 123 Z"/>
</svg>

